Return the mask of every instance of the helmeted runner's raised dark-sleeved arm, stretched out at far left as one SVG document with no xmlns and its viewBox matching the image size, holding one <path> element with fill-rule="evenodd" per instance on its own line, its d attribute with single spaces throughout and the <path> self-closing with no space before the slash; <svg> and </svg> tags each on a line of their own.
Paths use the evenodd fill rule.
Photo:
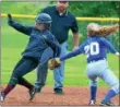
<svg viewBox="0 0 120 107">
<path fill-rule="evenodd" d="M 31 32 L 32 32 L 32 28 L 31 26 L 23 26 L 22 24 L 13 21 L 12 19 L 12 15 L 11 14 L 8 14 L 8 24 L 10 26 L 12 26 L 13 28 L 15 28 L 16 31 L 23 33 L 23 34 L 26 34 L 26 35 L 29 35 Z"/>
</svg>

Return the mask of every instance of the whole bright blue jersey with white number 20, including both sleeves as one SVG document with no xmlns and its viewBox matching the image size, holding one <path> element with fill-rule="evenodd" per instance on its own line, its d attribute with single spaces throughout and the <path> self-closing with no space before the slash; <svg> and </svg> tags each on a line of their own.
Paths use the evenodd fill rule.
<svg viewBox="0 0 120 107">
<path fill-rule="evenodd" d="M 80 54 L 85 54 L 87 57 L 87 62 L 97 61 L 100 59 L 107 58 L 107 49 L 109 49 L 112 54 L 116 54 L 117 50 L 104 37 L 92 36 L 87 38 L 79 49 L 61 57 L 61 60 L 65 60 L 68 58 L 74 57 Z"/>
</svg>

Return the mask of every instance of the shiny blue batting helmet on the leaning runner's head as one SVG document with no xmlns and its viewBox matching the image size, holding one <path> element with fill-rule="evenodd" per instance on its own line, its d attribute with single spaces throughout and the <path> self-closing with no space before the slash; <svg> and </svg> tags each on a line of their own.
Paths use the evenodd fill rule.
<svg viewBox="0 0 120 107">
<path fill-rule="evenodd" d="M 37 23 L 51 23 L 51 16 L 47 13 L 40 13 L 35 20 Z"/>
</svg>

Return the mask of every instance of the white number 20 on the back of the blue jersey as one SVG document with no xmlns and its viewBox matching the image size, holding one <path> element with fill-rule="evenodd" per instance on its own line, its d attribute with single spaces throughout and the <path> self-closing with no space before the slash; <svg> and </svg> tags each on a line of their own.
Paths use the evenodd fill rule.
<svg viewBox="0 0 120 107">
<path fill-rule="evenodd" d="M 91 45 L 85 46 L 85 54 L 87 57 L 89 55 L 98 55 L 99 54 L 99 44 L 98 43 L 92 43 Z"/>
</svg>

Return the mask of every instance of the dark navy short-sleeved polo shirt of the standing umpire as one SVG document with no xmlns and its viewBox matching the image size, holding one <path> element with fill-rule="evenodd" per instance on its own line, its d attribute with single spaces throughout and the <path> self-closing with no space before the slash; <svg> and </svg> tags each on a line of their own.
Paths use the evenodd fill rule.
<svg viewBox="0 0 120 107">
<path fill-rule="evenodd" d="M 48 7 L 43 12 L 51 16 L 51 32 L 60 44 L 68 39 L 69 29 L 73 33 L 79 32 L 76 20 L 70 12 L 60 15 L 56 7 Z"/>
</svg>

